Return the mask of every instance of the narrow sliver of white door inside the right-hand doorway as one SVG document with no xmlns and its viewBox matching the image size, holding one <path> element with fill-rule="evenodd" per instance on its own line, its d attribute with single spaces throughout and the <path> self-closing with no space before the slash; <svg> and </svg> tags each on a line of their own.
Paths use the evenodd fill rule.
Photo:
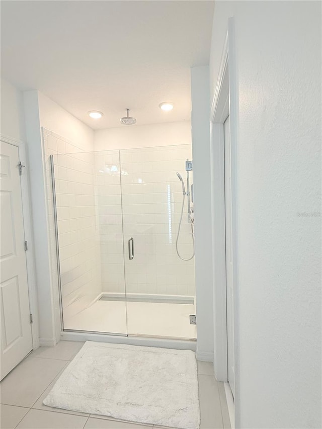
<svg viewBox="0 0 322 429">
<path fill-rule="evenodd" d="M 226 299 L 227 299 L 227 359 L 228 383 L 234 389 L 234 351 L 233 351 L 233 272 L 232 272 L 232 224 L 231 224 L 231 156 L 229 116 L 224 122 L 224 156 L 225 156 L 225 232 L 226 232 Z"/>
</svg>

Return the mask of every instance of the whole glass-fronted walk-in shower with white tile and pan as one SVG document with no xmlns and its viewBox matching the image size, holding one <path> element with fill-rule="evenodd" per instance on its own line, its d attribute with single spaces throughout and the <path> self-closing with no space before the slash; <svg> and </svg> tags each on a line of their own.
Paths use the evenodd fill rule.
<svg viewBox="0 0 322 429">
<path fill-rule="evenodd" d="M 51 163 L 63 329 L 195 339 L 191 146 Z"/>
</svg>

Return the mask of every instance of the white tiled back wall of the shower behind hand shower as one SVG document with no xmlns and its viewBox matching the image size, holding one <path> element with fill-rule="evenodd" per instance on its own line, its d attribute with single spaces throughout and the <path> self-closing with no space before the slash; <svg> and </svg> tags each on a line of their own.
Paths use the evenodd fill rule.
<svg viewBox="0 0 322 429">
<path fill-rule="evenodd" d="M 182 261 L 176 253 L 183 199 L 176 173 L 186 179 L 191 145 L 121 150 L 118 156 L 118 151 L 96 154 L 103 292 L 124 292 L 125 263 L 128 293 L 194 296 L 194 260 Z M 192 183 L 192 173 L 190 178 Z M 193 253 L 187 200 L 179 250 L 185 259 Z"/>
</svg>

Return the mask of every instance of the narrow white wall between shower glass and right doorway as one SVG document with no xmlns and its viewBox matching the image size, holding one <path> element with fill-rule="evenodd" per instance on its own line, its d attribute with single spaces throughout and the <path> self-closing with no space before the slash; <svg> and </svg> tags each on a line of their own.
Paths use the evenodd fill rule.
<svg viewBox="0 0 322 429">
<path fill-rule="evenodd" d="M 209 67 L 191 68 L 197 357 L 213 360 Z"/>
</svg>

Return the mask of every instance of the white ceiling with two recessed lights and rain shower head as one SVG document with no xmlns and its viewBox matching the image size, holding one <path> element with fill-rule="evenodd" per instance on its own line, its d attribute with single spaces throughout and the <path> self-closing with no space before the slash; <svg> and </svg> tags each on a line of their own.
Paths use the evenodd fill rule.
<svg viewBox="0 0 322 429">
<path fill-rule="evenodd" d="M 209 63 L 213 1 L 1 1 L 2 77 L 93 129 L 189 121 L 190 67 Z M 158 105 L 174 103 L 171 112 Z M 100 120 L 87 112 L 104 113 Z M 134 125 L 135 126 L 135 125 Z"/>
</svg>

